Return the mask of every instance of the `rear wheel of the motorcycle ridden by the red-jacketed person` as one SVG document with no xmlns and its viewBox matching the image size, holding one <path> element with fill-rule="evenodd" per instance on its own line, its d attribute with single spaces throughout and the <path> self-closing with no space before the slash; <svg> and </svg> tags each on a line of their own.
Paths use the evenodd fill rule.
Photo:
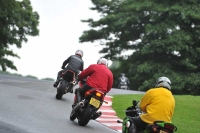
<svg viewBox="0 0 200 133">
<path fill-rule="evenodd" d="M 80 126 L 86 126 L 92 118 L 92 114 L 94 114 L 93 108 L 91 106 L 87 106 L 82 117 L 78 119 L 78 124 Z"/>
</svg>

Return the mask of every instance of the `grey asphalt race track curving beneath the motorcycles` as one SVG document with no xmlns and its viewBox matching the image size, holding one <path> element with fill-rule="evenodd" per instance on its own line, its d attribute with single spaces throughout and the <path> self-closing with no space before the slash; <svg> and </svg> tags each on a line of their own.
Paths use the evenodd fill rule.
<svg viewBox="0 0 200 133">
<path fill-rule="evenodd" d="M 0 133 L 119 133 L 97 121 L 70 121 L 74 94 L 55 99 L 53 81 L 0 74 Z M 112 89 L 108 95 L 142 93 Z"/>
</svg>

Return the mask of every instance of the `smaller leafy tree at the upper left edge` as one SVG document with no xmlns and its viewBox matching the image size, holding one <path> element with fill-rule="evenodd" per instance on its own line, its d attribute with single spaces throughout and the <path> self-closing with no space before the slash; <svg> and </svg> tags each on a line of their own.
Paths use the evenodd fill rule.
<svg viewBox="0 0 200 133">
<path fill-rule="evenodd" d="M 22 47 L 27 42 L 27 35 L 37 36 L 39 15 L 33 12 L 30 0 L 0 0 L 0 66 L 2 71 L 7 68 L 17 70 L 14 63 L 7 57 L 20 58 L 12 50 L 11 45 Z"/>
</svg>

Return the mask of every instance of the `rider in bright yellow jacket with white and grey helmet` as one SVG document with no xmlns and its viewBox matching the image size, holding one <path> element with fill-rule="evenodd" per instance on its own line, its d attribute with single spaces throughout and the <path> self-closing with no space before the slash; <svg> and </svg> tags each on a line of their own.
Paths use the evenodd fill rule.
<svg viewBox="0 0 200 133">
<path fill-rule="evenodd" d="M 148 90 L 138 106 L 144 113 L 138 117 L 129 117 L 134 131 L 138 133 L 154 121 L 171 122 L 174 114 L 175 99 L 171 93 L 171 81 L 167 77 L 160 77 L 155 88 Z"/>
</svg>

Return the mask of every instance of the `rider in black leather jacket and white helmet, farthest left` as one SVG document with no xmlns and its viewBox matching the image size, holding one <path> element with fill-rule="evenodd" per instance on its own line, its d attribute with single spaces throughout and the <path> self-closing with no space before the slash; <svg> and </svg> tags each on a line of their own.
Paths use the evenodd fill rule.
<svg viewBox="0 0 200 133">
<path fill-rule="evenodd" d="M 57 87 L 60 78 L 62 76 L 68 76 L 68 73 L 65 73 L 67 70 L 71 70 L 75 73 L 75 77 L 77 78 L 77 75 L 80 71 L 83 71 L 84 67 L 84 61 L 82 60 L 83 57 L 83 51 L 82 50 L 77 50 L 75 52 L 75 55 L 69 56 L 62 64 L 62 70 L 60 70 L 57 74 L 57 79 L 55 83 L 53 84 L 54 87 Z M 67 65 L 67 67 L 65 67 Z M 62 75 L 62 73 L 65 73 L 65 75 Z M 71 90 L 71 93 L 73 93 L 73 90 Z"/>
</svg>

